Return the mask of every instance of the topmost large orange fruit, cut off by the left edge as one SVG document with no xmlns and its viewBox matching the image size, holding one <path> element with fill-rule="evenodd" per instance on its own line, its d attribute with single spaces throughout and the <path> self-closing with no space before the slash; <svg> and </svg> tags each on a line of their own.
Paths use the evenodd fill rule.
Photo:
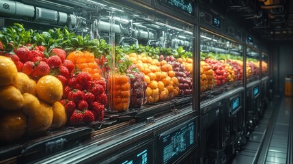
<svg viewBox="0 0 293 164">
<path fill-rule="evenodd" d="M 17 77 L 17 68 L 9 57 L 0 55 L 0 87 L 13 85 Z"/>
</svg>

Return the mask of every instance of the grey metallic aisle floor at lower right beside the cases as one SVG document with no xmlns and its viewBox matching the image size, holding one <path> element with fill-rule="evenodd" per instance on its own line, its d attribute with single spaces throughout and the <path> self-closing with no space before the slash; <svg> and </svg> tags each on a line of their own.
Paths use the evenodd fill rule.
<svg viewBox="0 0 293 164">
<path fill-rule="evenodd" d="M 249 136 L 249 141 L 243 150 L 236 154 L 232 163 L 290 163 L 288 146 L 292 144 L 290 141 L 292 112 L 292 97 L 274 98 L 264 111 L 262 120 Z"/>
</svg>

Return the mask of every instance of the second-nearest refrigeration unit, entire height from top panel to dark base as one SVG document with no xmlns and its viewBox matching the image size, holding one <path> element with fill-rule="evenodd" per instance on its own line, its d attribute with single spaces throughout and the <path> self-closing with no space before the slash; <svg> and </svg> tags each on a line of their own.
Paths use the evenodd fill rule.
<svg viewBox="0 0 293 164">
<path fill-rule="evenodd" d="M 219 14 L 200 8 L 202 158 L 204 163 L 227 163 L 245 142 L 242 32 Z"/>
</svg>

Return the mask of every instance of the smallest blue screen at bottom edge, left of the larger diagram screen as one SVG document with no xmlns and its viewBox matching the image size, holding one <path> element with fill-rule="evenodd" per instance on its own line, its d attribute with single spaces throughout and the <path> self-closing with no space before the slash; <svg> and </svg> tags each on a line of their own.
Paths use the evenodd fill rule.
<svg viewBox="0 0 293 164">
<path fill-rule="evenodd" d="M 122 162 L 119 162 L 121 164 L 146 164 L 151 163 L 148 161 L 150 159 L 150 150 L 148 148 L 141 148 L 135 153 L 130 154 L 125 159 L 122 159 Z M 128 154 L 127 154 L 128 155 Z"/>
</svg>

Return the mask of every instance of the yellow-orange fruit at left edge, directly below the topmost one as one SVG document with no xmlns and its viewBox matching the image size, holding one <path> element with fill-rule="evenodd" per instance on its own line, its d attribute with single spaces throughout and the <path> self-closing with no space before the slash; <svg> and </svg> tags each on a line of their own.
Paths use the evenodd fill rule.
<svg viewBox="0 0 293 164">
<path fill-rule="evenodd" d="M 23 95 L 14 86 L 0 88 L 0 109 L 17 110 L 23 106 Z"/>
</svg>

